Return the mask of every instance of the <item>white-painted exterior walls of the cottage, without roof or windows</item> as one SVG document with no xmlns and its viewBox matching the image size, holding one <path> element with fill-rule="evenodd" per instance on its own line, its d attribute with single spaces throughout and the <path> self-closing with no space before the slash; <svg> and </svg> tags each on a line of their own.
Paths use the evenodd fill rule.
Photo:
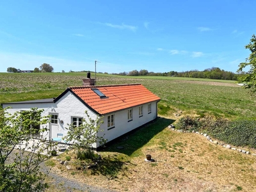
<svg viewBox="0 0 256 192">
<path fill-rule="evenodd" d="M 50 123 L 47 127 L 52 129 L 47 138 L 56 137 L 56 133 L 63 133 L 63 136 L 67 134 L 68 124 L 71 123 L 71 118 L 81 117 L 86 118 L 85 111 L 88 111 L 88 115 L 91 118 L 97 118 L 97 115 L 90 111 L 77 97 L 75 97 L 71 92 L 67 92 L 60 100 L 56 103 L 33 103 L 33 104 L 8 104 L 12 109 L 8 109 L 8 112 L 14 113 L 15 111 L 29 110 L 31 108 L 44 109 L 43 116 L 45 115 L 58 115 L 58 124 L 51 125 Z M 3 108 L 6 108 L 7 105 L 3 104 Z M 151 120 L 154 120 L 157 117 L 157 102 L 151 102 L 151 113 L 148 114 L 148 104 L 143 105 L 143 116 L 139 117 L 139 106 L 132 108 L 132 120 L 128 122 L 127 120 L 127 110 L 119 111 L 115 114 L 115 128 L 108 130 L 108 115 L 103 116 L 102 120 L 104 124 L 100 125 L 100 129 L 104 130 L 99 132 L 98 135 L 102 136 L 105 134 L 104 138 L 108 141 L 114 140 L 119 136 L 122 136 L 126 132 L 132 131 L 137 127 L 140 127 Z M 111 115 L 109 114 L 109 115 Z M 63 124 L 61 124 L 63 121 Z M 96 147 L 96 143 L 93 145 Z M 97 145 L 99 147 L 99 145 Z"/>
</svg>

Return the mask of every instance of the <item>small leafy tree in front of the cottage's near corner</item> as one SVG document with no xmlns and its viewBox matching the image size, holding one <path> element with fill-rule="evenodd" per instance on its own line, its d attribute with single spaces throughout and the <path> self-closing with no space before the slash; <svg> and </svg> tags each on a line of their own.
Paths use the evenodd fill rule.
<svg viewBox="0 0 256 192">
<path fill-rule="evenodd" d="M 67 136 L 65 136 L 64 140 L 74 143 L 73 147 L 76 150 L 77 158 L 80 157 L 80 154 L 86 154 L 90 159 L 93 159 L 93 143 L 104 145 L 106 140 L 104 136 L 98 136 L 100 124 L 102 124 L 99 116 L 93 119 L 88 115 L 87 111 L 85 111 L 85 114 L 86 119 L 83 118 L 83 124 L 69 125 Z"/>
</svg>

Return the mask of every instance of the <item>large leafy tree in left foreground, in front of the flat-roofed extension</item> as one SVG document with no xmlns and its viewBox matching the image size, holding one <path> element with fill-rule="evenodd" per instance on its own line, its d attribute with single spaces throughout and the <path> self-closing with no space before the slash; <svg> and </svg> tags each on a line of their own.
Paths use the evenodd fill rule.
<svg viewBox="0 0 256 192">
<path fill-rule="evenodd" d="M 49 159 L 54 143 L 45 145 L 43 137 L 42 140 L 30 137 L 38 132 L 43 136 L 47 131 L 35 128 L 49 120 L 41 114 L 42 110 L 36 108 L 14 114 L 0 110 L 0 191 L 44 191 L 47 188 L 39 165 Z M 46 156 L 41 155 L 43 151 Z"/>
</svg>

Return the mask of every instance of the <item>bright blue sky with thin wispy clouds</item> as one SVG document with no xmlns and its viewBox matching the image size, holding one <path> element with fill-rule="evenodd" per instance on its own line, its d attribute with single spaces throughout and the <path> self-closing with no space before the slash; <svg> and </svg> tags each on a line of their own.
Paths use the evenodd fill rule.
<svg viewBox="0 0 256 192">
<path fill-rule="evenodd" d="M 236 72 L 256 33 L 256 1 L 1 1 L 0 72 Z"/>
</svg>

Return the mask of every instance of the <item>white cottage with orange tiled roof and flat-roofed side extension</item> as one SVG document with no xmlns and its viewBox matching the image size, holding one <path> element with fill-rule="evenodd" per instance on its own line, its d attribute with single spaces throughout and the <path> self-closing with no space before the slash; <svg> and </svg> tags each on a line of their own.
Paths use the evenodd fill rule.
<svg viewBox="0 0 256 192">
<path fill-rule="evenodd" d="M 104 131 L 99 134 L 105 134 L 104 138 L 111 141 L 157 118 L 159 100 L 142 84 L 119 84 L 70 87 L 54 99 L 8 102 L 2 106 L 12 107 L 8 109 L 10 113 L 44 109 L 42 115 L 51 116 L 49 140 L 58 134 L 65 136 L 68 124 L 81 124 L 86 118 L 84 111 L 88 111 L 92 118 L 102 116 L 104 123 L 100 129 Z"/>
</svg>

